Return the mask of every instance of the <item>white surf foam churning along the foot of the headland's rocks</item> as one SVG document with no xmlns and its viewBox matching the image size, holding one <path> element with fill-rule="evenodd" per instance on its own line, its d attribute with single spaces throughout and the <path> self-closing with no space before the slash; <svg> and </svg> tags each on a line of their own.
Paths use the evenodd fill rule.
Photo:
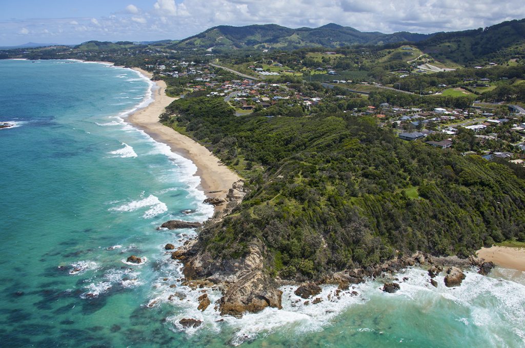
<svg viewBox="0 0 525 348">
<path fill-rule="evenodd" d="M 180 263 L 166 262 L 166 271 L 171 273 L 171 277 L 181 275 Z M 191 290 L 187 287 L 178 286 L 175 289 L 167 287 L 166 283 L 158 281 L 155 284 L 156 293 L 154 294 L 154 305 L 160 303 L 171 303 L 177 307 L 178 314 L 166 319 L 172 324 L 172 330 L 185 331 L 192 335 L 199 330 L 220 331 L 217 321 L 223 319 L 224 324 L 230 326 L 228 331 L 234 332 L 233 339 L 229 342 L 238 345 L 246 340 L 252 340 L 258 336 L 265 336 L 277 330 L 293 332 L 293 334 L 304 334 L 322 330 L 326 325 L 330 325 L 335 317 L 351 306 L 363 305 L 369 301 L 380 299 L 397 301 L 395 298 L 405 298 L 409 301 L 416 301 L 424 306 L 440 307 L 436 301 L 440 299 L 451 300 L 467 308 L 471 313 L 471 318 L 460 317 L 458 322 L 464 325 L 484 326 L 490 331 L 488 339 L 495 342 L 506 342 L 504 336 L 507 332 L 516 334 L 518 338 L 525 337 L 525 297 L 517 294 L 525 294 L 525 287 L 516 282 L 493 279 L 478 275 L 474 271 L 466 271 L 466 279 L 460 287 L 447 288 L 444 285 L 444 276 L 439 275 L 435 279 L 438 288 L 434 288 L 428 283 L 427 272 L 419 268 L 411 268 L 396 274 L 394 277 L 402 279 L 408 277 L 406 281 L 396 281 L 400 283 L 401 289 L 396 293 L 385 293 L 381 290 L 383 280 L 368 280 L 365 283 L 357 284 L 348 291 L 339 292 L 336 286 L 324 285 L 322 292 L 318 296 L 310 298 L 309 304 L 304 304 L 306 300 L 296 296 L 293 291 L 297 286 L 283 286 L 280 288 L 282 293 L 282 310 L 266 308 L 259 313 L 246 313 L 242 318 L 221 317 L 213 310 L 214 302 L 220 298 L 220 292 L 207 289 L 208 297 L 212 304 L 204 312 L 197 310 L 197 297 L 202 294 L 202 289 Z M 352 291 L 358 292 L 357 296 Z M 184 300 L 167 300 L 170 294 L 182 292 L 186 298 Z M 312 304 L 314 298 L 320 298 L 322 302 Z M 152 300 L 153 301 L 153 300 Z M 390 301 L 390 300 L 388 300 Z M 495 303 L 496 302 L 496 303 Z M 495 307 L 493 307 L 495 305 Z M 493 315 L 494 311 L 498 316 Z M 202 320 L 203 324 L 198 328 L 183 329 L 178 323 L 182 318 L 193 318 Z M 511 325 L 509 328 L 509 324 Z M 373 328 L 358 328 L 358 332 L 371 332 Z M 499 332 L 501 331 L 501 332 Z M 495 344 L 498 346 L 498 344 Z M 499 344 L 501 345 L 501 344 Z"/>
</svg>

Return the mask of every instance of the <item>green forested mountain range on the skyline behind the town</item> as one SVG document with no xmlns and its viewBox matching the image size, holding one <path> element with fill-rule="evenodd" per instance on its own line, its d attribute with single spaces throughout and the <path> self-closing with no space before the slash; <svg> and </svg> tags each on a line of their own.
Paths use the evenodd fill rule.
<svg viewBox="0 0 525 348">
<path fill-rule="evenodd" d="M 448 59 L 461 65 L 481 59 L 496 59 L 498 56 L 521 58 L 525 48 L 525 19 L 511 20 L 486 28 L 428 35 L 406 31 L 393 34 L 365 33 L 333 23 L 319 28 L 297 29 L 276 24 L 217 26 L 169 47 L 173 49 L 297 49 L 401 42 L 415 44 L 436 59 Z"/>
</svg>

